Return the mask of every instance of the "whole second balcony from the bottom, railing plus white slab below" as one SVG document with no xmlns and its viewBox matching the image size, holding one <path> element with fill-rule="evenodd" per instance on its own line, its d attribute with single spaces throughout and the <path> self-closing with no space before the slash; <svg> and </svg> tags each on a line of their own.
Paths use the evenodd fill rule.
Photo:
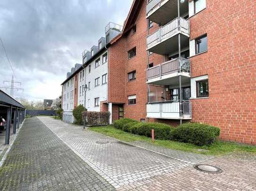
<svg viewBox="0 0 256 191">
<path fill-rule="evenodd" d="M 174 84 L 180 75 L 182 75 L 182 83 L 190 81 L 190 60 L 182 57 L 147 69 L 147 83 L 169 85 L 170 78 L 173 78 L 172 84 Z"/>
</svg>

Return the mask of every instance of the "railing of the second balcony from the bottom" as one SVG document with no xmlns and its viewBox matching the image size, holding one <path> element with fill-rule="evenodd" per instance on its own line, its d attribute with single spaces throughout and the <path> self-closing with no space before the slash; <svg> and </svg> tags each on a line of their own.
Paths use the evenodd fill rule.
<svg viewBox="0 0 256 191">
<path fill-rule="evenodd" d="M 147 79 L 165 76 L 174 72 L 190 73 L 190 60 L 180 57 L 158 64 L 157 66 L 147 69 Z"/>
</svg>

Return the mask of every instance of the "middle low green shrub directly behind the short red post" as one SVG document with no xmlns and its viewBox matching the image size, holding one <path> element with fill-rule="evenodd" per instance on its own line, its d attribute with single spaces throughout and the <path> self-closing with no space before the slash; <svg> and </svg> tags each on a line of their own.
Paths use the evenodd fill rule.
<svg viewBox="0 0 256 191">
<path fill-rule="evenodd" d="M 151 131 L 154 129 L 155 138 L 166 140 L 170 138 L 173 127 L 165 123 L 158 122 L 140 122 L 132 126 L 132 133 L 151 137 Z"/>
</svg>

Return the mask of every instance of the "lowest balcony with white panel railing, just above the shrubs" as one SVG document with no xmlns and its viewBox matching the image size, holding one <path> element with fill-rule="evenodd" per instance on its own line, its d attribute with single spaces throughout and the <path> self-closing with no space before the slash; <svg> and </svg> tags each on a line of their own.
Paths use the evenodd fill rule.
<svg viewBox="0 0 256 191">
<path fill-rule="evenodd" d="M 180 116 L 180 101 L 161 101 L 147 104 L 147 117 L 159 119 L 191 119 L 191 103 L 182 100 L 182 116 Z"/>
</svg>

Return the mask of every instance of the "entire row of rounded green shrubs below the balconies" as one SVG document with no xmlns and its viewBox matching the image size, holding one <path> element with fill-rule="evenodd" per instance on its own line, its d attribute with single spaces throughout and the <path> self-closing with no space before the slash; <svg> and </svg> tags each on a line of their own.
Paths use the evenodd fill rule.
<svg viewBox="0 0 256 191">
<path fill-rule="evenodd" d="M 157 122 L 138 122 L 133 119 L 120 119 L 114 122 L 116 129 L 124 130 L 136 135 L 151 137 L 151 130 L 155 130 L 156 139 L 174 140 L 195 145 L 210 145 L 220 135 L 220 129 L 200 123 L 184 123 L 176 128 Z"/>
</svg>

